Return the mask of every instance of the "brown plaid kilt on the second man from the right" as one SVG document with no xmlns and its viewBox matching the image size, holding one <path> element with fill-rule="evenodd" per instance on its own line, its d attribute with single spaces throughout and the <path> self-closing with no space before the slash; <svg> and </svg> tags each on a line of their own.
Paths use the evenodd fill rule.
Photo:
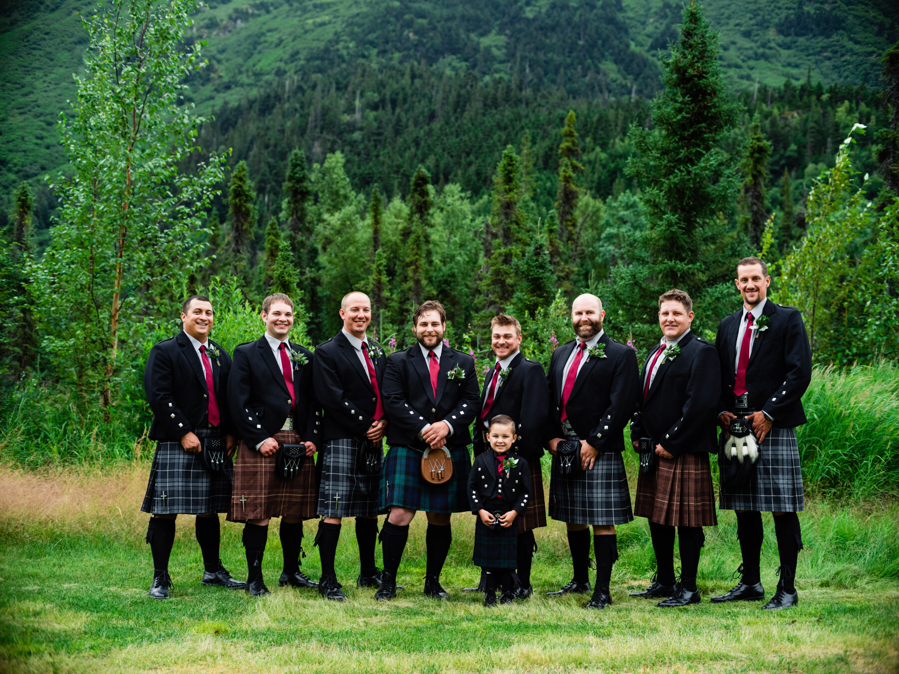
<svg viewBox="0 0 899 674">
<path fill-rule="evenodd" d="M 652 473 L 637 477 L 634 515 L 672 527 L 716 527 L 708 454 L 658 459 Z"/>
</svg>

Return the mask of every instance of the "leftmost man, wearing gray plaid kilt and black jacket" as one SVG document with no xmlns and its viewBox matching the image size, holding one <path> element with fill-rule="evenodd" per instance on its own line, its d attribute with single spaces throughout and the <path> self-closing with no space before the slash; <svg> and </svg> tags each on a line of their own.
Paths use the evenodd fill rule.
<svg viewBox="0 0 899 674">
<path fill-rule="evenodd" d="M 196 536 L 203 554 L 203 584 L 242 589 L 218 558 L 218 513 L 227 512 L 231 498 L 231 455 L 235 439 L 227 406 L 231 359 L 209 339 L 214 313 L 209 297 L 188 297 L 181 307 L 183 331 L 154 344 L 144 369 L 144 389 L 153 410 L 150 439 L 156 454 L 147 494 L 140 510 L 153 513 L 147 543 L 153 553 L 153 583 L 149 596 L 168 599 L 172 579 L 169 555 L 178 514 L 196 515 Z M 219 470 L 201 457 L 203 443 L 220 440 L 227 461 Z"/>
</svg>

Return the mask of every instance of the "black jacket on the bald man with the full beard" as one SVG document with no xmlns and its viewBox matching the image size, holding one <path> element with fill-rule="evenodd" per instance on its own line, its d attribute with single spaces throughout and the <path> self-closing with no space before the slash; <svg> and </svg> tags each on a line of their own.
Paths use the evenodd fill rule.
<svg viewBox="0 0 899 674">
<path fill-rule="evenodd" d="M 549 361 L 550 409 L 545 439 L 564 438 L 561 409 L 562 373 L 577 341 L 569 341 L 553 352 Z M 574 379 L 565 406 L 568 422 L 579 438 L 600 452 L 624 451 L 624 427 L 636 412 L 640 397 L 640 371 L 636 354 L 628 345 L 603 333 L 605 358 L 590 357 Z"/>
</svg>

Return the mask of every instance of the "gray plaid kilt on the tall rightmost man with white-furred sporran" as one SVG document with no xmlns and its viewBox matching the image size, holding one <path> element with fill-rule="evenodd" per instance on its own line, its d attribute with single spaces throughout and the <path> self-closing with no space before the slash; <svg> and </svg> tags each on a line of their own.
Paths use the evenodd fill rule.
<svg viewBox="0 0 899 674">
<path fill-rule="evenodd" d="M 724 448 L 725 434 L 721 434 L 719 449 Z M 718 470 L 725 461 L 718 454 Z M 759 510 L 762 512 L 798 512 L 806 510 L 802 492 L 802 466 L 796 429 L 774 426 L 759 446 L 755 462 L 755 477 L 742 492 L 725 492 L 720 488 L 721 510 Z"/>
</svg>

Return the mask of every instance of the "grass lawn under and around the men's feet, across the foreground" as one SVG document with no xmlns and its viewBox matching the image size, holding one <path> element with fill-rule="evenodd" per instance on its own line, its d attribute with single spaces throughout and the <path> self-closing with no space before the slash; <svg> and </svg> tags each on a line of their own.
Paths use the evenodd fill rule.
<svg viewBox="0 0 899 674">
<path fill-rule="evenodd" d="M 628 597 L 648 580 L 652 547 L 644 520 L 619 528 L 614 605 L 586 611 L 587 598 L 548 599 L 568 581 L 563 525 L 539 529 L 538 595 L 487 609 L 460 592 L 476 582 L 473 517 L 454 516 L 442 581 L 449 603 L 422 596 L 424 526 L 416 519 L 397 599 L 356 590 L 355 537 L 346 520 L 338 574 L 348 601 L 278 588 L 280 544 L 272 524 L 263 571 L 272 594 L 200 585 L 193 518 L 178 523 L 173 599 L 147 598 L 151 563 L 138 512 L 147 465 L 100 473 L 0 472 L 0 671 L 896 671 L 899 656 L 899 508 L 812 501 L 800 516 L 798 607 L 769 613 L 757 603 L 713 606 L 739 563 L 734 516 L 707 529 L 699 569 L 703 603 L 659 609 Z M 317 578 L 307 522 L 303 570 Z M 777 566 L 766 519 L 762 581 Z M 379 554 L 379 552 L 378 552 Z M 224 524 L 222 556 L 244 577 L 240 527 Z"/>
</svg>

